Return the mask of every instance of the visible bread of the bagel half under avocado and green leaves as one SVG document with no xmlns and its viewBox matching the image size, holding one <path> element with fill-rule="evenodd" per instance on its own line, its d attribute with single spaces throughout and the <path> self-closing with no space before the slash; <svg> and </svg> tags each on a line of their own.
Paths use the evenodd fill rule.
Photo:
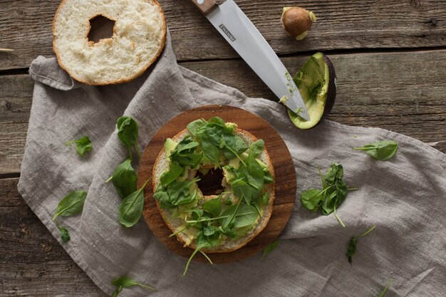
<svg viewBox="0 0 446 297">
<path fill-rule="evenodd" d="M 251 133 L 247 132 L 246 130 L 241 129 L 235 129 L 234 134 L 242 137 L 244 142 L 247 144 L 248 147 L 254 142 L 256 142 L 257 138 L 252 135 Z M 180 142 L 181 140 L 185 139 L 185 137 L 191 135 L 190 131 L 185 129 L 179 132 L 177 135 L 172 137 L 172 140 L 175 142 Z M 191 135 L 192 136 L 192 135 Z M 243 155 L 244 157 L 247 156 L 247 153 L 249 153 L 249 150 L 245 152 Z M 159 155 L 157 156 L 157 160 L 155 162 L 155 165 L 153 167 L 152 172 L 152 184 L 154 192 L 156 192 L 156 189 L 160 186 L 160 177 L 164 172 L 167 172 L 170 170 L 170 157 L 168 157 L 169 153 L 166 152 L 166 148 L 160 151 Z M 264 166 L 264 170 L 268 170 L 271 176 L 274 179 L 274 168 L 271 163 L 271 160 L 269 158 L 268 152 L 266 151 L 266 148 L 263 149 L 261 154 L 256 157 L 262 166 Z M 224 158 L 223 158 L 224 159 Z M 222 160 L 220 166 L 224 168 L 224 165 L 234 165 L 237 164 L 238 160 Z M 197 177 L 197 172 L 204 170 L 207 171 L 209 169 L 217 168 L 217 165 L 209 165 L 209 162 L 203 158 L 202 162 L 199 165 L 199 168 L 190 169 L 187 168 L 187 172 L 182 174 L 182 180 L 184 180 L 185 174 L 187 174 L 186 180 L 192 180 L 195 177 Z M 231 185 L 230 178 L 228 178 L 228 172 L 227 170 L 222 170 L 223 172 L 223 179 L 222 179 L 222 187 L 224 188 L 224 192 L 231 192 Z M 206 176 L 200 177 L 202 179 L 206 178 Z M 222 201 L 222 212 L 224 212 L 224 209 L 227 209 L 227 200 L 231 201 L 231 204 L 237 204 L 241 199 L 240 197 L 237 197 L 233 192 L 232 193 L 226 193 L 226 194 L 212 194 L 212 195 L 204 195 L 202 194 L 202 191 L 199 189 L 199 186 L 193 186 L 191 189 L 195 190 L 197 189 L 197 203 L 196 206 L 192 205 L 190 209 L 197 207 L 201 208 L 202 204 L 209 201 L 209 199 L 216 199 L 217 197 L 221 197 Z M 192 191 L 192 190 L 191 190 Z M 247 230 L 244 230 L 244 234 L 239 236 L 227 236 L 222 235 L 219 244 L 216 246 L 207 246 L 201 251 L 205 251 L 208 253 L 223 253 L 223 252 L 229 252 L 234 251 L 245 244 L 247 244 L 251 239 L 254 239 L 254 237 L 259 234 L 266 226 L 266 224 L 269 222 L 269 218 L 271 217 L 271 213 L 273 210 L 273 203 L 274 203 L 274 182 L 271 182 L 269 184 L 264 184 L 263 192 L 268 192 L 269 194 L 269 200 L 266 204 L 261 204 L 261 215 L 259 214 L 256 223 L 250 226 Z M 177 239 L 184 244 L 184 246 L 190 247 L 192 249 L 197 248 L 197 234 L 199 231 L 202 231 L 202 229 L 195 228 L 194 226 L 189 226 L 187 229 L 185 229 L 188 225 L 185 222 L 185 216 L 187 216 L 187 213 L 190 212 L 190 209 L 187 209 L 186 207 L 177 207 L 172 209 L 165 209 L 160 206 L 160 202 L 155 199 L 155 202 L 157 204 L 158 209 L 160 210 L 160 213 L 162 215 L 162 218 L 164 219 L 167 226 L 172 230 L 173 234 L 176 234 Z M 244 202 L 244 201 L 243 201 Z M 187 217 L 186 219 L 190 219 L 190 217 Z M 219 226 L 217 221 L 213 224 L 214 226 Z M 185 229 L 184 231 L 182 231 Z"/>
</svg>

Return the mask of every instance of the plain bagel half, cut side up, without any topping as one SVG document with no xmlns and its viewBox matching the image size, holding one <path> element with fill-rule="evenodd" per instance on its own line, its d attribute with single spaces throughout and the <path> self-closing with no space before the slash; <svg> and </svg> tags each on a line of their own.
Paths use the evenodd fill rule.
<svg viewBox="0 0 446 297">
<path fill-rule="evenodd" d="M 88 41 L 90 20 L 115 21 L 113 36 Z M 165 46 L 156 0 L 63 0 L 53 19 L 53 51 L 71 77 L 88 85 L 124 83 L 141 75 Z"/>
</svg>

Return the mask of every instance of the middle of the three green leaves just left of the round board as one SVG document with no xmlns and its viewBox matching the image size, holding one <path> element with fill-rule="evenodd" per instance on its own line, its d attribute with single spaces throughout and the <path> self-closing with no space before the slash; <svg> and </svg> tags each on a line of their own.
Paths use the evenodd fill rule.
<svg viewBox="0 0 446 297">
<path fill-rule="evenodd" d="M 138 174 L 133 169 L 132 161 L 129 158 L 116 167 L 111 180 L 118 195 L 125 198 L 136 191 L 137 179 Z"/>
</svg>

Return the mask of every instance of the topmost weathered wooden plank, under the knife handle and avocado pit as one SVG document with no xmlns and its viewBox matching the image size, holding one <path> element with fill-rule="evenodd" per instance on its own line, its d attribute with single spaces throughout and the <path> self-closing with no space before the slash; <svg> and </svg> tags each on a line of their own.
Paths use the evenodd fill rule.
<svg viewBox="0 0 446 297">
<path fill-rule="evenodd" d="M 0 70 L 25 68 L 38 55 L 52 56 L 51 22 L 59 0 L 0 0 Z M 396 3 L 395 3 L 396 2 Z M 190 1 L 160 0 L 178 60 L 238 57 Z M 344 48 L 446 46 L 442 0 L 312 0 L 299 3 L 318 20 L 304 41 L 286 36 L 280 16 L 292 0 L 237 0 L 277 53 Z"/>
</svg>

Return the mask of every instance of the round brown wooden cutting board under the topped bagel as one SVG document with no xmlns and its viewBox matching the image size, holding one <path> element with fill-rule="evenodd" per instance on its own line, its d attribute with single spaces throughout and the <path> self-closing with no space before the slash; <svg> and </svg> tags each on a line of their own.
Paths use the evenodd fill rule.
<svg viewBox="0 0 446 297">
<path fill-rule="evenodd" d="M 193 120 L 199 118 L 208 120 L 214 116 L 219 116 L 226 122 L 236 123 L 239 128 L 251 132 L 257 138 L 263 139 L 266 150 L 268 150 L 272 164 L 274 165 L 275 173 L 276 199 L 274 199 L 271 219 L 269 219 L 269 223 L 265 229 L 241 249 L 228 253 L 208 254 L 214 263 L 228 263 L 252 256 L 262 251 L 271 241 L 274 241 L 281 230 L 284 229 L 294 207 L 294 199 L 296 199 L 296 172 L 294 171 L 293 160 L 284 140 L 281 139 L 279 134 L 268 123 L 257 115 L 232 106 L 207 105 L 187 110 L 185 113 L 177 115 L 158 130 L 145 148 L 138 170 L 138 189 L 152 176 L 153 164 L 160 150 L 164 147 L 166 138 L 173 137 L 178 132 L 184 130 L 187 124 Z M 151 182 L 147 183 L 144 196 L 145 205 L 143 215 L 145 222 L 147 222 L 153 234 L 168 249 L 189 258 L 193 249 L 184 247 L 180 241 L 177 241 L 176 236 L 169 237 L 172 231 L 167 227 L 156 207 Z M 201 262 L 207 261 L 199 253 L 196 254 L 194 260 Z"/>
</svg>

